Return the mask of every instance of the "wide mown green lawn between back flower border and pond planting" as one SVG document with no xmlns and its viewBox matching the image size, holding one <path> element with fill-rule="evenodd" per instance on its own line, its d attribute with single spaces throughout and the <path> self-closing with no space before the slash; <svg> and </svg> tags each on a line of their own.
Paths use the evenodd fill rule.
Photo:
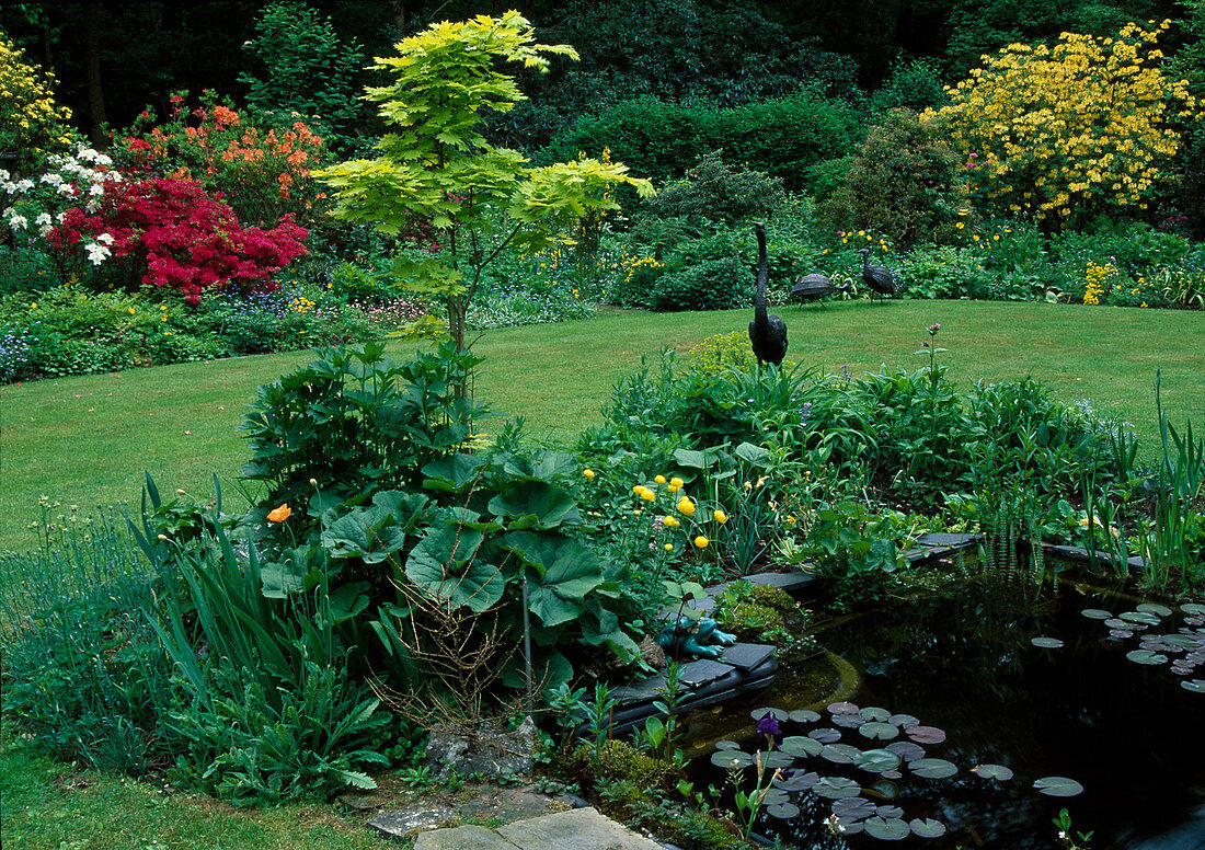
<svg viewBox="0 0 1205 850">
<path fill-rule="evenodd" d="M 853 374 L 880 364 L 919 368 L 925 327 L 940 322 L 939 344 L 960 385 L 1027 375 L 1060 398 L 1091 399 L 1101 414 L 1133 422 L 1150 451 L 1154 373 L 1174 423 L 1205 427 L 1205 313 L 984 301 L 846 301 L 827 309 L 780 307 L 789 329 L 788 358 L 803 367 Z M 684 347 L 747 327 L 751 311 L 611 312 L 560 324 L 486 333 L 480 398 L 522 415 L 529 430 L 571 440 L 600 421 L 617 380 L 662 346 Z M 395 346 L 399 354 L 406 347 Z M 136 504 L 142 470 L 160 488 L 210 493 L 216 473 L 229 491 L 246 446 L 245 405 L 310 352 L 245 357 L 116 375 L 37 381 L 0 388 L 0 549 L 27 549 L 36 503 L 47 496 L 78 505 Z M 484 422 L 487 430 L 496 422 Z"/>
</svg>

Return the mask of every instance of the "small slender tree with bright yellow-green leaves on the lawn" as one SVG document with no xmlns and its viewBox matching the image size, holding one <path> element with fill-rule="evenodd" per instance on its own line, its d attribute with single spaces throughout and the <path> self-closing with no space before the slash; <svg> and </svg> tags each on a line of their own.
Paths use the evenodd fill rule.
<svg viewBox="0 0 1205 850">
<path fill-rule="evenodd" d="M 374 69 L 393 75 L 368 89 L 396 128 L 375 159 L 340 163 L 319 176 L 335 189 L 335 215 L 398 235 L 429 227 L 434 242 L 402 252 L 394 272 L 405 288 L 436 293 L 447 304 L 448 330 L 465 346 L 465 315 L 482 270 L 507 246 L 529 251 L 568 242 L 570 225 L 594 210 L 616 209 L 616 183 L 652 194 L 627 166 L 582 158 L 530 168 L 516 151 L 489 145 L 487 110 L 505 112 L 524 99 L 499 60 L 546 68 L 542 54 L 576 58 L 565 45 L 539 45 L 517 12 L 433 24 L 398 43 L 398 55 Z"/>
</svg>

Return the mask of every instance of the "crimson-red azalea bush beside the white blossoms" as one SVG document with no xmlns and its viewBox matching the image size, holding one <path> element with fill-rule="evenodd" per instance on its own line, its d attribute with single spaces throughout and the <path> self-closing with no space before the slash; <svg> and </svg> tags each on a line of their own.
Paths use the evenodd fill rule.
<svg viewBox="0 0 1205 850">
<path fill-rule="evenodd" d="M 149 177 L 110 183 L 96 212 L 69 210 L 47 241 L 77 253 L 86 241 L 129 258 L 142 282 L 178 291 L 189 304 L 227 285 L 275 288 L 272 272 L 305 253 L 308 231 L 284 216 L 271 229 L 245 228 L 234 210 L 193 180 Z"/>
</svg>

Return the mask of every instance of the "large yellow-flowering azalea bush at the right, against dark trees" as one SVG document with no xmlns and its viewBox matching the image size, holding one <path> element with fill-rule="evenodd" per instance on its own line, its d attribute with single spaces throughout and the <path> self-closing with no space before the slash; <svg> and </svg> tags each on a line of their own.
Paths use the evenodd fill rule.
<svg viewBox="0 0 1205 850">
<path fill-rule="evenodd" d="M 1010 45 L 928 110 L 966 156 L 989 212 L 1059 228 L 1106 210 L 1145 209 L 1197 104 L 1169 81 L 1154 43 L 1170 22 L 1129 23 L 1115 39 L 1064 33 L 1053 47 Z"/>
</svg>

